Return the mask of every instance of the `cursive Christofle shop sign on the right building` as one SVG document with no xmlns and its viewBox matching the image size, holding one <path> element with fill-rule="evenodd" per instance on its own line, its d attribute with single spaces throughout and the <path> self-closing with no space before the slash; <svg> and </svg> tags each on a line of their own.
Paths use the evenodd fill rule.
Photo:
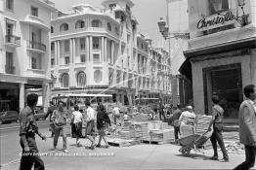
<svg viewBox="0 0 256 170">
<path fill-rule="evenodd" d="M 196 27 L 197 29 L 202 29 L 206 27 L 213 27 L 215 25 L 220 26 L 220 24 L 225 25 L 226 23 L 229 23 L 235 20 L 237 22 L 242 22 L 242 17 L 236 17 L 232 11 L 227 11 L 222 14 L 218 14 L 217 16 L 214 16 L 214 17 L 202 16 L 202 18 L 197 22 Z"/>
</svg>

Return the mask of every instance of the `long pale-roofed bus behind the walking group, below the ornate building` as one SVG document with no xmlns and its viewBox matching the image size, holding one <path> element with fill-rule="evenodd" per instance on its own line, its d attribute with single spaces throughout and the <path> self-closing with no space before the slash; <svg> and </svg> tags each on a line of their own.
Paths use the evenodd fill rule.
<svg viewBox="0 0 256 170">
<path fill-rule="evenodd" d="M 78 105 L 82 110 L 85 107 L 84 102 L 86 100 L 91 102 L 93 108 L 96 108 L 98 102 L 103 103 L 107 107 L 107 111 L 109 110 L 109 106 L 113 105 L 112 95 L 110 94 L 63 93 L 52 96 L 53 103 L 58 105 L 58 102 L 62 101 L 66 110 L 71 110 L 74 105 Z"/>
</svg>

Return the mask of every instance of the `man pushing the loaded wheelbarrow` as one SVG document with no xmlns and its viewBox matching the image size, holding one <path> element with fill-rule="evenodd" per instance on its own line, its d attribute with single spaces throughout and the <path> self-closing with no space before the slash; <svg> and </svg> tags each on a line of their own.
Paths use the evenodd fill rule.
<svg viewBox="0 0 256 170">
<path fill-rule="evenodd" d="M 229 156 L 227 153 L 227 150 L 224 145 L 222 131 L 223 131 L 223 114 L 224 109 L 219 105 L 219 96 L 213 95 L 212 96 L 212 119 L 210 121 L 208 130 L 211 131 L 211 126 L 213 125 L 213 133 L 210 138 L 213 148 L 213 156 L 210 157 L 212 160 L 218 160 L 218 151 L 217 151 L 217 142 L 221 148 L 221 151 L 223 153 L 223 159 L 220 159 L 221 162 L 228 162 Z"/>
</svg>

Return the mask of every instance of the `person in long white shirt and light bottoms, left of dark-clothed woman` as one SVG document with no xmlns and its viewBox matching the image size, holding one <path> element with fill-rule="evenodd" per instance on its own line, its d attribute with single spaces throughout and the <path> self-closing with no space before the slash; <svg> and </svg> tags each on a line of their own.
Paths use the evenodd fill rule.
<svg viewBox="0 0 256 170">
<path fill-rule="evenodd" d="M 96 111 L 91 107 L 90 101 L 86 101 L 85 105 L 87 107 L 87 119 L 86 119 L 86 132 L 85 132 L 85 137 L 89 139 L 92 144 L 91 144 L 91 149 L 94 150 L 96 147 L 96 142 L 94 140 L 94 135 L 95 135 L 95 120 L 96 120 Z"/>
</svg>

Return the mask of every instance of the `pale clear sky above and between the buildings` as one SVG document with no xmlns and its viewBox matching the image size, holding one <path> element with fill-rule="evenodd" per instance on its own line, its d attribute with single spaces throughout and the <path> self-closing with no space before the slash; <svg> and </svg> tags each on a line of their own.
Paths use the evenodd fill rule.
<svg viewBox="0 0 256 170">
<path fill-rule="evenodd" d="M 85 3 L 94 7 L 104 8 L 103 0 L 51 0 L 55 7 L 60 11 L 67 11 L 72 5 Z M 166 17 L 166 0 L 132 0 L 135 6 L 131 9 L 133 16 L 138 19 L 140 31 L 147 38 L 153 40 L 153 46 L 168 48 L 168 42 L 165 41 L 159 33 L 157 21 L 160 17 Z"/>
</svg>

